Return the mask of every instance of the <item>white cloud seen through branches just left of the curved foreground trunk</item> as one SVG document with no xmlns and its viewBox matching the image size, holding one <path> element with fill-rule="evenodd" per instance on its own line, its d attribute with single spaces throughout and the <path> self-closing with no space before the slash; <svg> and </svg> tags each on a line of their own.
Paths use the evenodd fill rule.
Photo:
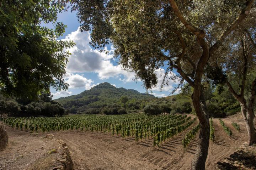
<svg viewBox="0 0 256 170">
<path fill-rule="evenodd" d="M 163 68 L 159 68 L 156 70 L 156 77 L 158 78 L 158 83 L 156 84 L 156 87 L 152 88 L 151 90 L 161 91 L 161 84 L 164 79 L 164 75 L 165 75 L 165 70 Z M 174 80 L 171 80 L 170 78 L 173 76 L 175 76 L 175 73 L 173 73 L 173 72 L 169 72 L 167 74 L 166 79 L 168 80 L 168 85 L 165 84 L 162 87 L 162 91 L 171 92 L 172 90 L 174 90 L 174 86 L 177 85 L 179 83 L 179 81 L 177 80 L 175 82 Z M 166 80 L 165 80 L 165 82 L 166 82 Z"/>
</svg>

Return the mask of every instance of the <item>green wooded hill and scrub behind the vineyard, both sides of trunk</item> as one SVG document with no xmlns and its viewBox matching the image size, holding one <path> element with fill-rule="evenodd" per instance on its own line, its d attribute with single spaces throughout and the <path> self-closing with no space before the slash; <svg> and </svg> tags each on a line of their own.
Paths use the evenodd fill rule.
<svg viewBox="0 0 256 170">
<path fill-rule="evenodd" d="M 204 84 L 204 96 L 210 116 L 223 118 L 240 111 L 240 105 L 228 89 Z M 58 98 L 59 102 L 71 114 L 125 114 L 144 112 L 148 115 L 161 113 L 195 114 L 191 95 L 193 89 L 188 85 L 181 88 L 179 94 L 167 97 L 154 97 L 136 90 L 117 88 L 109 83 L 101 83 L 78 95 Z"/>
</svg>

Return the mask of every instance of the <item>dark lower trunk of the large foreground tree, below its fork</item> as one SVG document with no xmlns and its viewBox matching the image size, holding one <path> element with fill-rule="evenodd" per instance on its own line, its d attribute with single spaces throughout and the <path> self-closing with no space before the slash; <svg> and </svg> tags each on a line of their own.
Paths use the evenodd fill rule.
<svg viewBox="0 0 256 170">
<path fill-rule="evenodd" d="M 210 139 L 210 123 L 209 115 L 206 111 L 205 101 L 201 96 L 202 103 L 192 97 L 194 109 L 196 111 L 197 117 L 200 121 L 200 132 L 199 140 L 197 145 L 197 151 L 192 160 L 192 170 L 204 170 L 206 158 L 208 155 L 209 139 Z"/>
</svg>

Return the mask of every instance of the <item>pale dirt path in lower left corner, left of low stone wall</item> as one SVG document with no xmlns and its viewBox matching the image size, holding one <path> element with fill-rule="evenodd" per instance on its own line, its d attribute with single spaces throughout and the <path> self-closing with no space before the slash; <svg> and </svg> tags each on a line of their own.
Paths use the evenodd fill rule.
<svg viewBox="0 0 256 170">
<path fill-rule="evenodd" d="M 55 162 L 56 154 L 48 151 L 56 149 L 59 143 L 45 138 L 46 134 L 32 134 L 5 126 L 9 142 L 0 151 L 0 170 L 46 169 Z"/>
</svg>

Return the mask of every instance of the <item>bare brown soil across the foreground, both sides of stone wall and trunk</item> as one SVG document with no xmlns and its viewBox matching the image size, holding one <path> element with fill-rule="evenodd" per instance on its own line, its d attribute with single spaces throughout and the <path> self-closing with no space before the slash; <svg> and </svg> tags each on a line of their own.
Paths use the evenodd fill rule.
<svg viewBox="0 0 256 170">
<path fill-rule="evenodd" d="M 209 144 L 207 170 L 215 169 L 218 161 L 228 157 L 247 141 L 246 128 L 240 115 L 223 119 L 233 132 L 231 137 L 225 134 L 219 119 L 213 119 L 215 141 Z M 232 121 L 240 125 L 241 132 L 233 128 Z M 186 150 L 181 142 L 183 136 L 197 123 L 160 147 L 153 147 L 150 138 L 135 143 L 133 137 L 123 139 L 107 133 L 74 130 L 55 131 L 52 134 L 66 142 L 76 170 L 188 170 L 191 169 L 191 161 L 196 152 L 198 135 Z M 57 141 L 45 138 L 47 133 L 28 135 L 28 132 L 5 127 L 9 144 L 4 151 L 0 151 L 0 169 L 31 169 L 39 159 L 48 159 L 41 155 L 47 155 L 47 151 L 58 146 Z M 55 161 L 54 156 L 51 159 Z"/>
</svg>

